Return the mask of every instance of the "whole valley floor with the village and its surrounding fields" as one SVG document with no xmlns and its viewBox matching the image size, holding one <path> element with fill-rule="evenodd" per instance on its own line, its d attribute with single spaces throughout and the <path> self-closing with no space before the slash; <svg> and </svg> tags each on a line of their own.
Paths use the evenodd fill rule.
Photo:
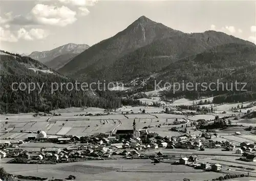
<svg viewBox="0 0 256 181">
<path fill-rule="evenodd" d="M 63 179 L 60 170 L 73 179 L 92 173 L 100 179 L 99 173 L 113 171 L 135 176 L 185 170 L 177 179 L 195 179 L 192 173 L 200 172 L 203 180 L 256 176 L 253 124 L 243 123 L 248 121 L 243 117 L 254 112 L 248 114 L 244 108 L 242 114 L 230 110 L 202 114 L 182 106 L 167 108 L 87 108 L 73 115 L 56 111 L 54 116 L 24 115 L 19 120 L 9 116 L 2 125 L 1 163 L 10 171 L 31 166 L 30 171 L 15 174 L 41 178 L 48 171 Z"/>
</svg>

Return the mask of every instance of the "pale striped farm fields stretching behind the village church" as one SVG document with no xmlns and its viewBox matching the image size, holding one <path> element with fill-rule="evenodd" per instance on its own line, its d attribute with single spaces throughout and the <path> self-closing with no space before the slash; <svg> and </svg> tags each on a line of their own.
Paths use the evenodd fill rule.
<svg viewBox="0 0 256 181">
<path fill-rule="evenodd" d="M 210 100 L 212 98 L 209 98 Z M 174 102 L 175 104 L 193 104 L 193 101 L 187 99 L 179 99 Z M 244 105 L 249 104 L 249 102 L 244 103 Z M 230 109 L 236 105 L 228 104 L 219 106 L 219 110 Z M 217 107 L 215 107 L 217 108 Z M 145 110 L 146 114 L 138 114 L 140 111 Z M 37 131 L 42 130 L 47 133 L 48 136 L 58 136 L 63 135 L 77 135 L 86 136 L 95 133 L 106 133 L 113 132 L 117 130 L 128 130 L 132 129 L 133 121 L 136 121 L 136 128 L 141 129 L 143 127 L 148 127 L 149 132 L 156 132 L 161 136 L 179 136 L 180 133 L 170 132 L 169 129 L 177 125 L 164 125 L 172 124 L 175 119 L 183 120 L 184 115 L 176 114 L 164 114 L 163 108 L 157 107 L 131 107 L 126 106 L 116 110 L 116 112 L 110 112 L 109 115 L 104 113 L 103 109 L 99 108 L 68 108 L 68 109 L 58 109 L 53 112 L 56 114 L 61 114 L 61 116 L 39 116 L 33 117 L 33 114 L 6 114 L 0 115 L 0 139 L 25 139 L 28 136 L 35 136 Z M 226 110 L 228 111 L 228 110 Z M 126 114 L 128 112 L 128 114 Z M 105 114 L 102 116 L 79 116 L 80 114 Z M 121 113 L 125 114 L 122 115 Z M 198 119 L 212 120 L 218 115 L 196 115 L 189 116 L 187 124 L 190 125 L 190 121 L 197 121 Z M 219 114 L 220 117 L 224 116 Z M 6 123 L 5 118 L 8 118 Z M 46 121 L 47 118 L 51 118 L 50 121 Z M 90 120 L 88 120 L 90 119 Z M 254 125 L 255 122 L 251 120 L 232 120 L 232 123 L 243 124 L 245 126 Z M 161 127 L 156 127 L 161 125 Z M 255 124 L 256 125 L 256 124 Z M 242 142 L 245 140 L 252 141 L 253 136 L 243 135 L 243 137 L 229 136 L 228 134 L 233 134 L 234 131 L 240 131 L 241 133 L 246 133 L 244 130 L 223 130 L 219 134 L 223 135 L 222 139 L 227 140 L 238 140 Z M 6 130 L 9 133 L 6 133 Z M 189 128 L 188 128 L 189 130 Z"/>
</svg>

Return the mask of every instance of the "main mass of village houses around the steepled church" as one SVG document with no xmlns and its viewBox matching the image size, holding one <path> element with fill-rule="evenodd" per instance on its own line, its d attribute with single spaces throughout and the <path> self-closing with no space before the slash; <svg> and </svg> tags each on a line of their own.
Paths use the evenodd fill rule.
<svg viewBox="0 0 256 181">
<path fill-rule="evenodd" d="M 0 145 L 0 156 L 4 157 L 25 157 L 34 160 L 51 160 L 67 162 L 73 158 L 110 158 L 112 156 L 124 156 L 125 158 L 144 157 L 143 152 L 146 149 L 158 148 L 181 148 L 197 149 L 205 148 L 225 148 L 225 150 L 234 150 L 236 145 L 229 141 L 213 141 L 211 135 L 207 132 L 202 135 L 184 134 L 177 137 L 161 137 L 157 133 L 148 133 L 147 129 L 136 130 L 134 120 L 133 130 L 117 130 L 115 135 L 110 133 L 100 133 L 91 136 L 64 136 L 47 137 L 44 131 L 38 131 L 37 136 L 28 137 L 26 141 L 53 142 L 59 144 L 73 144 L 63 149 L 41 148 L 40 152 L 32 153 L 23 151 L 19 145 L 23 141 L 12 143 L 10 141 Z M 255 144 L 241 143 L 241 149 L 236 152 L 252 152 L 256 148 Z M 247 157 L 247 156 L 246 156 Z M 250 156 L 248 156 L 250 157 Z M 247 159 L 250 160 L 250 159 Z M 253 160 L 253 159 L 252 159 Z M 188 160 L 187 160 L 188 161 Z"/>
</svg>

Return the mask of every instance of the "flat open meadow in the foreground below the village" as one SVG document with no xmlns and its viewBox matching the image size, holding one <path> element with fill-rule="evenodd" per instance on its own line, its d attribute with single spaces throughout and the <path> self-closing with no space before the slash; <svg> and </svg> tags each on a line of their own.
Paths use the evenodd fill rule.
<svg viewBox="0 0 256 181">
<path fill-rule="evenodd" d="M 222 173 L 203 172 L 187 166 L 172 166 L 167 163 L 152 164 L 151 160 L 87 161 L 58 165 L 2 164 L 12 174 L 39 177 L 67 178 L 70 174 L 76 180 L 206 180 Z M 118 170 L 118 171 L 113 171 Z M 123 171 L 123 172 L 121 172 Z M 152 173 L 155 172 L 155 173 Z M 200 173 L 196 173 L 200 172 Z"/>
</svg>

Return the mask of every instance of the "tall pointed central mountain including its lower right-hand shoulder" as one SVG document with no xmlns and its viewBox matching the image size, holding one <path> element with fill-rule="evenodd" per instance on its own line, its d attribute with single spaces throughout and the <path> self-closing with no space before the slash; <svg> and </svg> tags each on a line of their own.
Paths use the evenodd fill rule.
<svg viewBox="0 0 256 181">
<path fill-rule="evenodd" d="M 187 56 L 229 43 L 254 46 L 222 32 L 183 33 L 141 16 L 125 30 L 83 51 L 58 71 L 88 82 L 130 81 Z"/>
</svg>

